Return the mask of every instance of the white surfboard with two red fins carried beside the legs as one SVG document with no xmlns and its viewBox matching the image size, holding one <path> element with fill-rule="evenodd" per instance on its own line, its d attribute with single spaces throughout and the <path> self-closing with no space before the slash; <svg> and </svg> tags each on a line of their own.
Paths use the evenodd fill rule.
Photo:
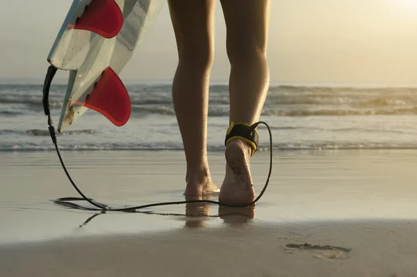
<svg viewBox="0 0 417 277">
<path fill-rule="evenodd" d="M 69 70 L 58 133 L 88 109 L 115 126 L 131 115 L 129 93 L 118 74 L 152 26 L 165 0 L 74 0 L 48 62 Z"/>
</svg>

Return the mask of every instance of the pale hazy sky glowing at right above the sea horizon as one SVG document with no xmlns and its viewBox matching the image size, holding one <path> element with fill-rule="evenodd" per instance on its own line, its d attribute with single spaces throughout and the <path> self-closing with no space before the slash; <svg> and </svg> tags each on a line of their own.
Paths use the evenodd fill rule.
<svg viewBox="0 0 417 277">
<path fill-rule="evenodd" d="M 417 0 L 271 1 L 272 83 L 417 84 Z M 44 78 L 47 55 L 71 3 L 2 1 L 0 79 Z M 229 78 L 225 34 L 218 1 L 212 81 Z M 176 67 L 165 3 L 121 78 L 172 81 Z"/>
</svg>

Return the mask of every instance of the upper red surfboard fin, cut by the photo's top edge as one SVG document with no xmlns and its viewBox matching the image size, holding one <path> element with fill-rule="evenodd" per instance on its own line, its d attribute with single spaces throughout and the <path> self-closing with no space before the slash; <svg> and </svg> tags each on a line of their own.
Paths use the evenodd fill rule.
<svg viewBox="0 0 417 277">
<path fill-rule="evenodd" d="M 92 0 L 85 6 L 74 29 L 91 31 L 105 38 L 115 37 L 123 26 L 123 14 L 115 0 Z"/>
</svg>

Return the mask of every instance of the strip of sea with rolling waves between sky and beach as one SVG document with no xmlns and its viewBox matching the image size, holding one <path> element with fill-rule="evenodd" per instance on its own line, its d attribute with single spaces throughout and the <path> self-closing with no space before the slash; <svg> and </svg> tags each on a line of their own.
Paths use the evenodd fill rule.
<svg viewBox="0 0 417 277">
<path fill-rule="evenodd" d="M 181 150 L 171 86 L 129 83 L 132 115 L 113 126 L 88 112 L 58 135 L 66 150 Z M 65 85 L 51 87 L 51 110 L 58 124 Z M 190 103 L 192 105 L 193 103 Z M 273 85 L 261 120 L 272 127 L 274 149 L 417 149 L 417 87 L 313 87 Z M 226 85 L 212 85 L 208 111 L 208 150 L 224 149 L 228 127 Z M 261 151 L 268 133 L 259 128 Z M 42 85 L 0 84 L 0 151 L 51 150 Z"/>
</svg>

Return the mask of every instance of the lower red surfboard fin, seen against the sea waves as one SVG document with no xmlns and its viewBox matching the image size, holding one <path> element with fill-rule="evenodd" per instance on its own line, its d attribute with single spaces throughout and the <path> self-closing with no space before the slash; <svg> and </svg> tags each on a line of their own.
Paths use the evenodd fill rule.
<svg viewBox="0 0 417 277">
<path fill-rule="evenodd" d="M 131 116 L 129 93 L 111 67 L 104 70 L 84 106 L 101 113 L 118 127 L 126 124 Z"/>
</svg>

